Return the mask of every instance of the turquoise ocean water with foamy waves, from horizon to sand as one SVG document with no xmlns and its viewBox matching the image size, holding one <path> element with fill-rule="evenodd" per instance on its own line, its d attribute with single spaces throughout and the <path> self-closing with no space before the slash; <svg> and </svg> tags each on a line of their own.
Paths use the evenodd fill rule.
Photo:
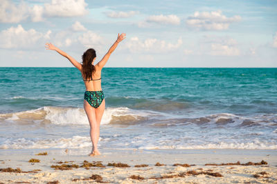
<svg viewBox="0 0 277 184">
<path fill-rule="evenodd" d="M 104 68 L 101 149 L 277 149 L 277 68 Z M 91 149 L 75 68 L 0 68 L 0 149 Z"/>
</svg>

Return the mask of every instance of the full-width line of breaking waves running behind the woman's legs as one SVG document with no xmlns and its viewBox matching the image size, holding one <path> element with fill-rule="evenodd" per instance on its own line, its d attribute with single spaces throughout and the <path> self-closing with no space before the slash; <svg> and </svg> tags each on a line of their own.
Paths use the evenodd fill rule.
<svg viewBox="0 0 277 184">
<path fill-rule="evenodd" d="M 89 125 L 83 108 L 62 108 L 46 106 L 37 110 L 28 110 L 0 114 L 1 121 L 16 123 L 55 123 L 59 125 Z M 138 125 L 144 123 L 152 127 L 172 125 L 198 125 L 206 127 L 253 127 L 276 126 L 277 114 L 256 114 L 239 116 L 230 113 L 210 114 L 199 117 L 186 117 L 152 110 L 134 110 L 126 107 L 106 108 L 101 124 Z"/>
</svg>

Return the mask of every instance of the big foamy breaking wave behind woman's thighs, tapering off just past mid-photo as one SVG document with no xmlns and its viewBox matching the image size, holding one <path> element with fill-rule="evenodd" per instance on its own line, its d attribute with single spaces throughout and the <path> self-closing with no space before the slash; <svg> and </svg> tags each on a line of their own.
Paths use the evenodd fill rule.
<svg viewBox="0 0 277 184">
<path fill-rule="evenodd" d="M 129 108 L 107 108 L 102 116 L 101 124 L 134 124 L 154 116 L 159 116 L 159 113 L 132 110 Z M 53 106 L 24 112 L 0 114 L 0 120 L 14 121 L 17 123 L 25 123 L 28 121 L 33 123 L 55 123 L 60 125 L 89 125 L 87 115 L 83 108 L 62 108 Z"/>
</svg>

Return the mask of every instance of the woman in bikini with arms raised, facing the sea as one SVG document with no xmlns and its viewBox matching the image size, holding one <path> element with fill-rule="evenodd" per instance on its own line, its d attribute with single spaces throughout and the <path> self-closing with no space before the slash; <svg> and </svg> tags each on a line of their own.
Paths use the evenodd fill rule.
<svg viewBox="0 0 277 184">
<path fill-rule="evenodd" d="M 71 56 L 63 52 L 62 50 L 56 48 L 51 43 L 46 43 L 47 50 L 55 50 L 63 57 L 69 59 L 69 61 L 78 68 L 82 73 L 82 78 L 84 81 L 84 85 L 86 86 L 86 92 L 84 92 L 84 111 L 87 114 L 87 119 L 89 119 L 90 125 L 90 135 L 92 142 L 92 150 L 89 156 L 99 155 L 100 152 L 97 147 L 99 132 L 100 132 L 100 122 L 102 119 L 102 115 L 105 110 L 105 99 L 104 93 L 101 88 L 101 70 L 104 65 L 107 63 L 109 56 L 116 49 L 118 43 L 125 39 L 126 34 L 119 34 L 114 42 L 109 48 L 109 51 L 105 56 L 99 61 L 96 65 L 93 63 L 96 61 L 96 51 L 93 48 L 88 49 L 82 55 L 82 64 L 78 63 Z"/>
</svg>

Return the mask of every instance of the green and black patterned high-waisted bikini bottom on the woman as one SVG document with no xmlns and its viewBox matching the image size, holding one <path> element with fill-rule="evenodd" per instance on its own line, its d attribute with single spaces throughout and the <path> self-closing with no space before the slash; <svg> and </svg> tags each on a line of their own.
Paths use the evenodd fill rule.
<svg viewBox="0 0 277 184">
<path fill-rule="evenodd" d="M 84 92 L 84 100 L 93 108 L 98 108 L 104 100 L 103 91 L 86 91 Z"/>
</svg>

